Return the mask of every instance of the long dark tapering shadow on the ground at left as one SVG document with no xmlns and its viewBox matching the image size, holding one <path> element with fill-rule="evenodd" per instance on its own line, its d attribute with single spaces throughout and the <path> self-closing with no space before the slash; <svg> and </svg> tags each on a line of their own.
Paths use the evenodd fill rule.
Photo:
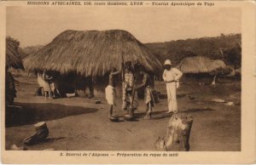
<svg viewBox="0 0 256 165">
<path fill-rule="evenodd" d="M 6 127 L 21 126 L 98 111 L 95 108 L 50 103 L 17 103 L 17 105 L 22 108 L 6 108 Z"/>
</svg>

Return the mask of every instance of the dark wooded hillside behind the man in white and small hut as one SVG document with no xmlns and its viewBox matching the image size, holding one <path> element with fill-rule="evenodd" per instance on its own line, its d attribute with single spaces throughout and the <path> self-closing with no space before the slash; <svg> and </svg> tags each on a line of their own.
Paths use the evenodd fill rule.
<svg viewBox="0 0 256 165">
<path fill-rule="evenodd" d="M 162 63 L 166 59 L 171 59 L 173 65 L 177 65 L 185 57 L 196 55 L 207 56 L 212 60 L 224 60 L 225 63 L 238 67 L 241 65 L 241 48 L 237 43 L 241 43 L 241 34 L 222 34 L 218 37 L 189 38 L 145 45 Z"/>
</svg>

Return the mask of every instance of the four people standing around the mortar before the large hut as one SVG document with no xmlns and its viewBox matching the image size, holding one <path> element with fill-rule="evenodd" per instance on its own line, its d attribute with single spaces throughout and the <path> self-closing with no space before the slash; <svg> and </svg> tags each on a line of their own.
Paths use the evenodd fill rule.
<svg viewBox="0 0 256 165">
<path fill-rule="evenodd" d="M 106 100 L 108 101 L 109 117 L 113 117 L 113 105 L 116 105 L 116 84 L 118 76 L 122 73 L 122 89 L 123 89 L 123 104 L 122 109 L 124 111 L 134 111 L 137 109 L 137 90 L 144 90 L 144 101 L 146 105 L 145 119 L 152 117 L 152 111 L 154 107 L 154 95 L 152 93 L 153 80 L 148 72 L 143 69 L 142 65 L 134 65 L 132 67 L 131 61 L 126 61 L 125 64 L 122 61 L 123 67 L 121 71 L 117 71 L 116 68 L 110 72 L 108 87 L 105 88 Z M 167 103 L 168 111 L 166 113 L 177 113 L 177 99 L 176 90 L 179 87 L 179 79 L 183 76 L 183 73 L 176 68 L 172 67 L 171 60 L 165 61 L 165 71 L 163 73 L 163 80 L 166 83 Z M 138 77 L 143 77 L 141 84 L 137 85 Z M 131 113 L 132 115 L 132 113 Z"/>
</svg>

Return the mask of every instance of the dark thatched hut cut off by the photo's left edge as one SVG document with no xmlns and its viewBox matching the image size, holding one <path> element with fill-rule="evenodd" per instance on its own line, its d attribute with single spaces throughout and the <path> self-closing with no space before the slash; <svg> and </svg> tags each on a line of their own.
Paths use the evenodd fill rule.
<svg viewBox="0 0 256 165">
<path fill-rule="evenodd" d="M 20 43 L 11 37 L 6 37 L 5 54 L 5 105 L 13 105 L 16 97 L 15 78 L 9 72 L 9 68 L 24 69 L 18 51 Z"/>
</svg>

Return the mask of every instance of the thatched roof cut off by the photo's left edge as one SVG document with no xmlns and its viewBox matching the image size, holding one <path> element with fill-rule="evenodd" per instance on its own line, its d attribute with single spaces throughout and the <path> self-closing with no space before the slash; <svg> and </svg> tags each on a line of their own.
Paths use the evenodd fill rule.
<svg viewBox="0 0 256 165">
<path fill-rule="evenodd" d="M 22 60 L 19 54 L 20 43 L 11 37 L 6 37 L 6 56 L 5 62 L 9 67 L 14 67 L 15 69 L 24 69 Z"/>
</svg>

